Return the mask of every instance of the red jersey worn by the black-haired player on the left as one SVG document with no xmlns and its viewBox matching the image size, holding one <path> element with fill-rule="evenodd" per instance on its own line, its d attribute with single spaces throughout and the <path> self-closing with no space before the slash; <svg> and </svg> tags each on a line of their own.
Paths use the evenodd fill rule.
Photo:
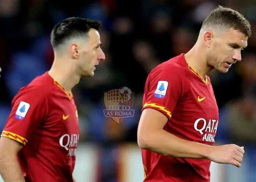
<svg viewBox="0 0 256 182">
<path fill-rule="evenodd" d="M 27 182 L 72 182 L 79 123 L 72 93 L 48 72 L 20 89 L 1 136 L 24 147 L 18 160 Z"/>
</svg>

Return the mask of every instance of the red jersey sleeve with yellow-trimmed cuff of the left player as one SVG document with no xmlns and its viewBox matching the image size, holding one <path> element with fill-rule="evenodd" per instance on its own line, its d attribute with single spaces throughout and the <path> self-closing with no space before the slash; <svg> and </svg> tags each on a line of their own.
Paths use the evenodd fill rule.
<svg viewBox="0 0 256 182">
<path fill-rule="evenodd" d="M 38 128 L 46 113 L 45 94 L 40 89 L 20 91 L 13 99 L 12 110 L 1 136 L 24 145 Z"/>
</svg>

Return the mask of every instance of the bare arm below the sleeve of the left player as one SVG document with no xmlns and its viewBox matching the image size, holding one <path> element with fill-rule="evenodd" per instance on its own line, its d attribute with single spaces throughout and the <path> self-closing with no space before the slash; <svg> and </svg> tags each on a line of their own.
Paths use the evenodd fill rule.
<svg viewBox="0 0 256 182">
<path fill-rule="evenodd" d="M 25 182 L 16 156 L 0 157 L 0 174 L 4 182 Z"/>
</svg>

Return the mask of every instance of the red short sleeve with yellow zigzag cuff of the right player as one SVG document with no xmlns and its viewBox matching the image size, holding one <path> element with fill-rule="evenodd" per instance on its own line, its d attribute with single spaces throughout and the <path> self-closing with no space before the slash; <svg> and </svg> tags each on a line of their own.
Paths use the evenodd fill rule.
<svg viewBox="0 0 256 182">
<path fill-rule="evenodd" d="M 143 96 L 143 109 L 156 109 L 171 118 L 182 95 L 183 77 L 179 69 L 159 65 L 148 75 Z"/>
</svg>

